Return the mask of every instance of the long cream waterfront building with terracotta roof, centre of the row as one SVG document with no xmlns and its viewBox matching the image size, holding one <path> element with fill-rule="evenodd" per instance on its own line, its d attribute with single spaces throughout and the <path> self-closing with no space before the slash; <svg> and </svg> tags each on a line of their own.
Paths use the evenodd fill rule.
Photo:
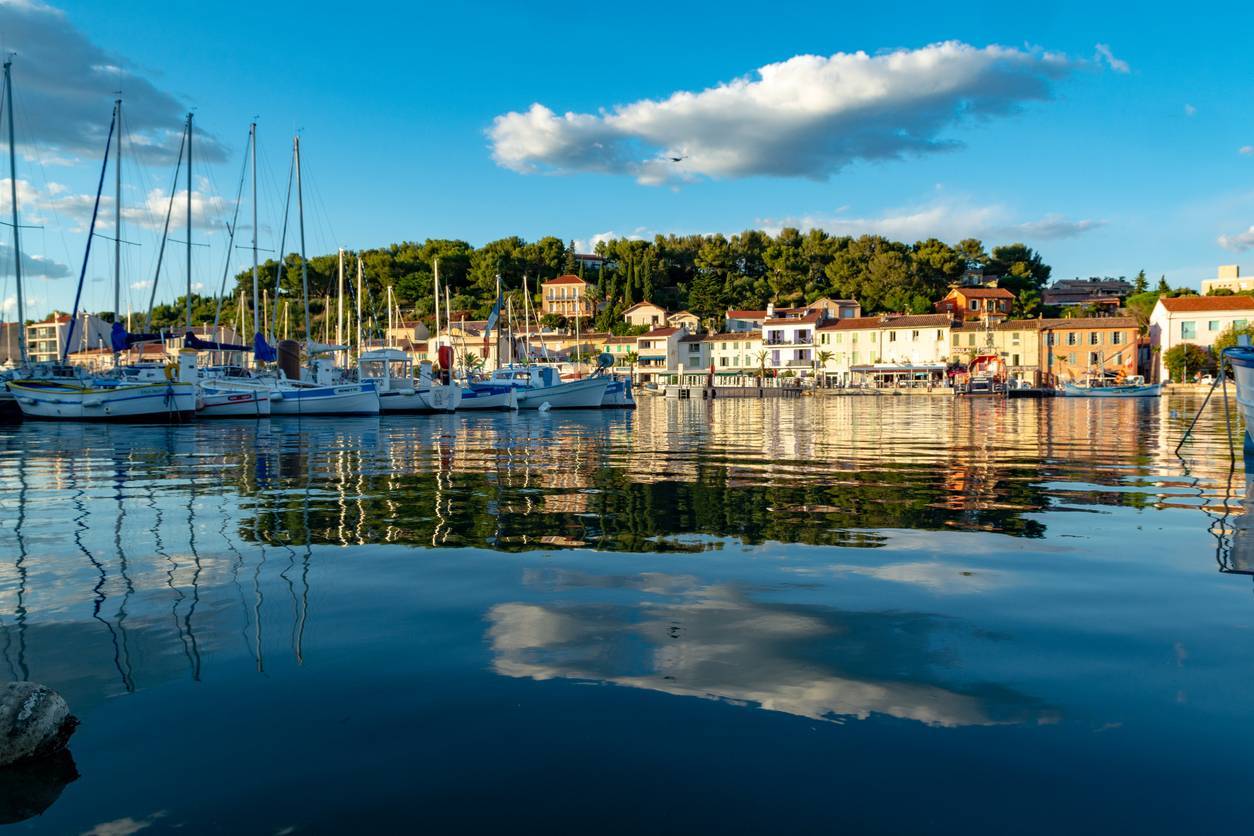
<svg viewBox="0 0 1254 836">
<path fill-rule="evenodd" d="M 943 381 L 949 356 L 946 313 L 887 313 L 819 325 L 818 355 L 828 385 Z"/>
</svg>

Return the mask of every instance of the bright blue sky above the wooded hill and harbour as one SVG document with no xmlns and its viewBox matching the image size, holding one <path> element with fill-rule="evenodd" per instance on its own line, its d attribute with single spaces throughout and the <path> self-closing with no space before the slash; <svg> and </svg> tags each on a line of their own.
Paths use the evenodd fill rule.
<svg viewBox="0 0 1254 836">
<path fill-rule="evenodd" d="M 65 38 L 70 45 L 43 44 L 41 53 L 29 38 L 14 43 L 24 40 L 14 33 L 29 30 L 6 24 L 31 16 L 55 23 L 38 30 L 48 33 L 40 39 Z M 199 4 L 132 0 L 123 11 L 117 4 L 69 1 L 53 11 L 0 0 L 0 46 L 18 51 L 19 180 L 31 189 L 31 206 L 23 201 L 23 208 L 43 226 L 28 231 L 24 251 L 68 268 L 44 272 L 69 273 L 33 278 L 29 313 L 71 300 L 84 239 L 74 212 L 82 213 L 80 196 L 93 191 L 98 174 L 94 138 L 61 129 L 98 110 L 103 130 L 112 104 L 100 79 L 73 78 L 73 61 L 33 64 L 83 44 L 124 68 L 127 107 L 137 102 L 149 139 L 168 142 L 162 132 L 177 132 L 187 107 L 208 132 L 202 148 L 219 159 L 197 167 L 198 206 L 203 201 L 208 211 L 196 234 L 213 244 L 194 253 L 193 280 L 204 287 L 221 276 L 226 247 L 218 218 L 229 211 L 255 115 L 263 248 L 277 244 L 278 189 L 291 135 L 300 129 L 311 253 L 426 237 L 482 243 L 517 233 L 588 242 L 604 233 L 734 233 L 791 223 L 907 239 L 1023 239 L 1053 264 L 1056 277 L 1145 268 L 1196 285 L 1219 263 L 1254 272 L 1254 248 L 1241 249 L 1254 247 L 1254 234 L 1241 238 L 1254 226 L 1254 149 L 1240 150 L 1254 147 L 1254 54 L 1239 41 L 1248 31 L 1254 10 L 1243 4 L 1185 15 L 1179 6 L 1092 3 L 1041 4 L 1031 13 L 1004 3 L 779 9 L 253 3 L 207 11 Z M 920 110 L 935 103 L 912 97 L 932 76 L 925 69 L 894 76 L 893 95 L 875 110 L 879 133 L 859 140 L 869 153 L 831 150 L 834 135 L 865 124 L 861 115 L 818 119 L 784 135 L 769 108 L 755 117 L 735 95 L 721 104 L 701 99 L 700 113 L 686 115 L 658 117 L 648 105 L 741 78 L 752 83 L 759 68 L 799 55 L 819 56 L 820 65 L 859 50 L 910 58 L 942 41 L 968 50 L 959 61 L 983 60 L 982 50 L 992 45 L 1009 56 L 989 59 L 984 74 L 943 100 L 939 115 L 922 128 Z M 1007 66 L 1018 68 L 1013 89 L 998 86 Z M 33 85 L 56 71 L 68 75 L 58 79 L 60 91 Z M 823 76 L 799 78 L 806 93 L 824 84 Z M 830 94 L 831 107 L 846 93 L 819 91 Z M 777 94 L 762 85 L 754 95 Z M 65 99 L 64 119 L 56 118 L 58 95 Z M 599 115 L 642 102 L 632 113 L 638 117 L 642 107 L 652 115 L 635 122 Z M 983 102 L 994 113 L 957 115 L 946 110 L 953 102 Z M 519 122 L 509 142 L 494 144 L 494 120 L 528 113 L 534 103 L 556 114 L 561 133 L 542 137 L 534 130 L 545 125 Z M 24 107 L 45 109 L 43 122 L 24 117 Z M 586 114 L 587 124 L 564 124 L 567 112 Z M 633 133 L 641 119 L 655 133 Z M 686 157 L 663 160 L 661 182 L 642 177 L 636 164 L 673 150 L 650 144 L 657 132 L 678 138 L 675 153 Z M 909 132 L 944 149 L 912 148 L 897 157 L 874 150 Z M 745 147 L 727 138 L 732 133 L 747 137 Z M 606 152 L 607 143 L 617 152 Z M 623 153 L 638 160 L 624 163 Z M 513 168 L 500 159 L 512 159 Z M 770 170 L 781 167 L 800 170 Z M 159 192 L 168 189 L 172 169 L 157 160 L 129 173 L 135 175 L 127 179 L 124 203 L 152 203 L 149 222 L 135 214 L 124 236 L 143 244 L 128 247 L 123 259 L 124 296 L 142 307 L 157 249 L 150 217 L 164 206 Z M 148 197 L 154 189 L 158 199 Z M 108 308 L 112 244 L 98 238 L 95 247 L 88 276 L 97 281 L 88 285 L 85 306 Z M 182 286 L 182 258 L 173 256 L 159 297 L 171 298 Z M 232 272 L 246 266 L 245 252 L 233 258 Z M 0 269 L 0 300 L 6 300 L 11 266 Z"/>
</svg>

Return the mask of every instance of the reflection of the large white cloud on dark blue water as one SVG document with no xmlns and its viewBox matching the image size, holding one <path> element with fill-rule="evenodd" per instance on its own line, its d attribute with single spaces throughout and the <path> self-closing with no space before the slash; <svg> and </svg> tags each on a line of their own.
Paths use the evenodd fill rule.
<svg viewBox="0 0 1254 836">
<path fill-rule="evenodd" d="M 547 592 L 630 589 L 648 600 L 504 603 L 488 613 L 493 669 L 724 699 L 813 719 L 873 712 L 929 726 L 1050 722 L 1057 712 L 994 683 L 946 683 L 942 648 L 996 640 L 927 613 L 765 603 L 734 584 L 663 574 L 528 572 Z"/>
</svg>

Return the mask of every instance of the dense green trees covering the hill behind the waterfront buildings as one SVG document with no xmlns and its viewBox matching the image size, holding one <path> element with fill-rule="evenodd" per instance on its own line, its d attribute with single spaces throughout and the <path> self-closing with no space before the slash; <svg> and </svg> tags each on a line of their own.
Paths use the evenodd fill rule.
<svg viewBox="0 0 1254 836">
<path fill-rule="evenodd" d="M 468 318 L 483 318 L 495 301 L 497 276 L 513 298 L 515 316 L 522 315 L 523 280 L 539 306 L 540 282 L 564 273 L 588 281 L 608 303 L 584 327 L 622 331 L 622 312 L 648 300 L 670 311 L 688 310 L 703 321 L 721 320 L 732 308 L 801 306 L 823 296 L 854 298 L 865 313 L 924 313 L 933 310 L 951 285 L 969 269 L 997 276 L 1001 286 L 1017 295 L 1016 316 L 1036 316 L 1041 290 L 1050 280 L 1050 266 L 1041 254 L 1022 243 L 991 249 L 976 238 L 949 244 L 937 238 L 915 243 L 882 236 L 831 236 L 820 229 L 781 229 L 777 234 L 750 229 L 734 236 L 656 236 L 652 241 L 614 238 L 596 244 L 604 262 L 587 264 L 576 257 L 573 242 L 547 236 L 524 241 L 512 236 L 474 247 L 465 241 L 428 239 L 401 242 L 359 253 L 346 253 L 350 295 L 355 295 L 356 257 L 365 268 L 365 310 L 377 331 L 385 320 L 386 292 L 406 318 L 428 323 L 434 316 L 433 277 L 439 262 L 440 282 L 449 291 L 451 310 Z M 311 315 L 316 323 L 334 313 L 324 300 L 336 288 L 337 254 L 308 259 Z M 303 313 L 300 305 L 300 259 L 283 259 L 278 280 L 277 312 L 286 316 L 292 333 L 298 333 Z M 262 264 L 262 287 L 272 297 L 278 263 Z M 252 271 L 234 277 L 234 287 L 223 302 L 222 321 L 237 320 L 238 300 L 251 308 Z M 273 300 L 270 302 L 273 306 Z M 212 320 L 216 302 L 193 297 L 197 322 Z M 444 307 L 444 300 L 440 300 Z M 276 316 L 272 307 L 270 315 Z M 251 310 L 243 317 L 251 322 Z M 182 297 L 154 310 L 154 325 L 174 327 L 183 320 Z M 272 320 L 273 321 L 273 320 Z M 316 325 L 316 327 L 321 327 Z"/>
</svg>

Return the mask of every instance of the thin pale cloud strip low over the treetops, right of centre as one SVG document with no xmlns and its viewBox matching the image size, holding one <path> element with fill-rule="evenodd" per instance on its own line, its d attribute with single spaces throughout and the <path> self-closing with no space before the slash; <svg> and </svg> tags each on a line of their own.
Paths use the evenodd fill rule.
<svg viewBox="0 0 1254 836">
<path fill-rule="evenodd" d="M 1018 238 L 1055 241 L 1072 238 L 1101 227 L 1104 221 L 1073 221 L 1060 214 L 1047 214 L 1033 221 L 1017 221 L 1014 212 L 1001 203 L 978 203 L 967 198 L 944 198 L 919 206 L 889 209 L 879 216 L 849 217 L 843 212 L 831 216 L 800 216 L 762 219 L 771 233 L 784 227 L 824 229 L 835 236 L 875 234 L 897 241 L 940 238 Z"/>
</svg>

